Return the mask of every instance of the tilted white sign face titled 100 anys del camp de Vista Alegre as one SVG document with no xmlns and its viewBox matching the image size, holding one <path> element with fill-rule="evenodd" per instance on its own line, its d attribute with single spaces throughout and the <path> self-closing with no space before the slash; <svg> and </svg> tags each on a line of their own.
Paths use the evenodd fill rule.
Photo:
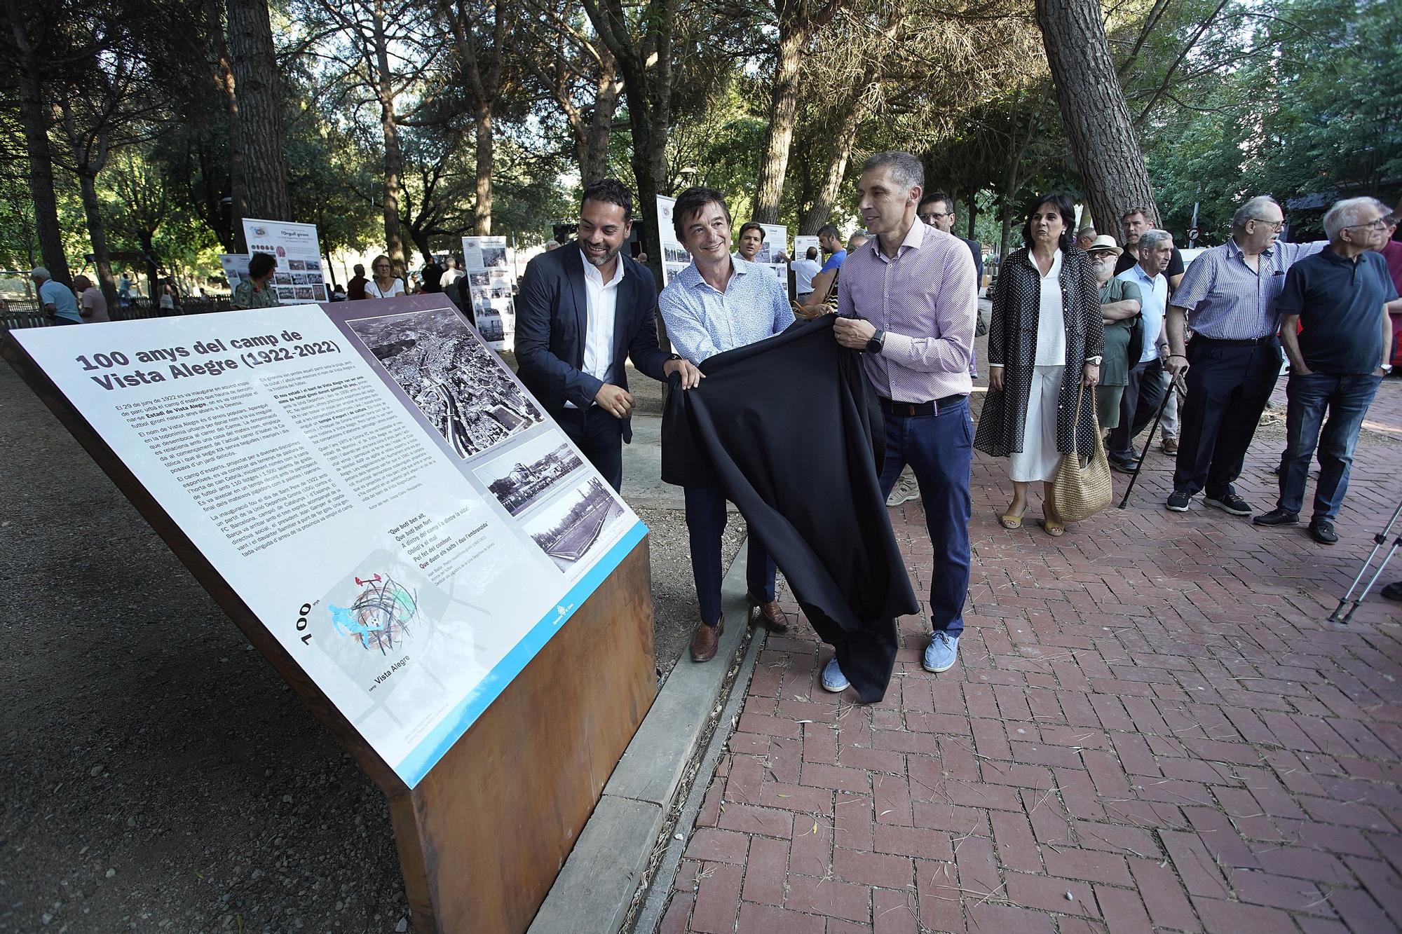
<svg viewBox="0 0 1402 934">
<path fill-rule="evenodd" d="M 646 532 L 433 306 L 11 332 L 409 787 Z"/>
</svg>

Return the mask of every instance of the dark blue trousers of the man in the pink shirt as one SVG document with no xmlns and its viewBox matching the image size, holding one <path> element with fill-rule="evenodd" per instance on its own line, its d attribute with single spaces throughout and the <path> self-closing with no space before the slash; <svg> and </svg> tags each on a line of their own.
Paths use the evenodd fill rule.
<svg viewBox="0 0 1402 934">
<path fill-rule="evenodd" d="M 890 495 L 910 464 L 925 505 L 925 527 L 934 548 L 930 567 L 930 628 L 959 637 L 969 596 L 969 520 L 973 499 L 973 418 L 969 400 L 945 405 L 935 415 L 886 412 L 886 464 L 880 495 Z"/>
</svg>

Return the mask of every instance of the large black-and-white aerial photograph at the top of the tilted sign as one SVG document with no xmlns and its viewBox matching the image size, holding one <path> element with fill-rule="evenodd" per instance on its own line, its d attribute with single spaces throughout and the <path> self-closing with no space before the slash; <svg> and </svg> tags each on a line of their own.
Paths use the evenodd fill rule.
<svg viewBox="0 0 1402 934">
<path fill-rule="evenodd" d="M 346 324 L 458 457 L 475 457 L 544 419 L 454 309 Z"/>
</svg>

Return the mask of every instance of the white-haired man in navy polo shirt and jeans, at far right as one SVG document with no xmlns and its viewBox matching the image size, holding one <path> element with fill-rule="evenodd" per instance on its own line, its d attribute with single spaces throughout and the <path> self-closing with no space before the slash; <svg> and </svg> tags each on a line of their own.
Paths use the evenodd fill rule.
<svg viewBox="0 0 1402 934">
<path fill-rule="evenodd" d="M 1301 259 L 1286 275 L 1276 302 L 1280 339 L 1290 356 L 1286 453 L 1280 456 L 1280 499 L 1274 509 L 1252 519 L 1258 526 L 1300 522 L 1305 475 L 1318 446 L 1309 537 L 1321 544 L 1339 540 L 1333 523 L 1349 489 L 1359 428 L 1378 383 L 1392 370 L 1388 313 L 1402 311 L 1388 264 L 1375 252 L 1387 230 L 1382 202 L 1340 201 L 1323 216 L 1329 248 Z M 1304 325 L 1298 334 L 1297 325 Z"/>
</svg>

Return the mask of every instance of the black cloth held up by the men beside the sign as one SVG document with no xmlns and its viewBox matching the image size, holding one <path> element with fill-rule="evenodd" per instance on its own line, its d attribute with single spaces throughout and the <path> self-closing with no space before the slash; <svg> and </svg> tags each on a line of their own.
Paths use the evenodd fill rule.
<svg viewBox="0 0 1402 934">
<path fill-rule="evenodd" d="M 875 703 L 896 663 L 896 617 L 920 604 L 880 494 L 886 422 L 833 320 L 704 360 L 697 388 L 673 377 L 662 480 L 725 491 L 847 680 Z"/>
</svg>

